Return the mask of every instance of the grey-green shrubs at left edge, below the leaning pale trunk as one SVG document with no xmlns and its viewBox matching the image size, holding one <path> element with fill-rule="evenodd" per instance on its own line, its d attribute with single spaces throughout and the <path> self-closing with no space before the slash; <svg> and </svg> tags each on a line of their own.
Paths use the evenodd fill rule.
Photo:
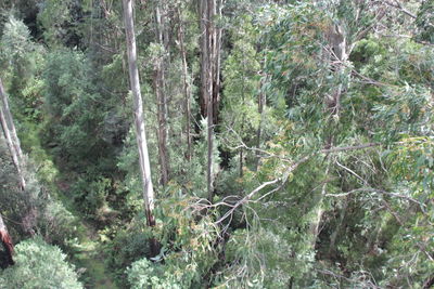
<svg viewBox="0 0 434 289">
<path fill-rule="evenodd" d="M 36 179 L 33 167 L 27 167 L 27 188 L 18 186 L 15 168 L 4 140 L 0 139 L 0 210 L 2 215 L 21 226 L 14 227 L 14 236 L 21 239 L 25 234 L 40 234 L 44 240 L 66 247 L 66 240 L 75 235 L 75 218 L 56 199 L 50 197 L 48 188 Z"/>
</svg>

